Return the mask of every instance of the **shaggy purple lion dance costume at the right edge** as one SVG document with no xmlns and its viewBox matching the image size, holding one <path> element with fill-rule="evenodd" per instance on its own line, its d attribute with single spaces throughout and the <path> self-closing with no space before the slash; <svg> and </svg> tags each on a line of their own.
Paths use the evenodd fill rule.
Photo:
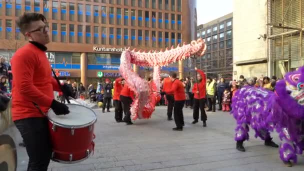
<svg viewBox="0 0 304 171">
<path fill-rule="evenodd" d="M 248 125 L 265 145 L 278 147 L 269 133 L 275 129 L 281 139 L 281 160 L 288 166 L 292 165 L 290 160 L 296 163 L 296 154 L 302 154 L 304 148 L 304 66 L 286 73 L 274 92 L 252 86 L 237 90 L 231 114 L 237 121 L 236 149 L 245 151 L 242 143 L 249 139 Z"/>
</svg>

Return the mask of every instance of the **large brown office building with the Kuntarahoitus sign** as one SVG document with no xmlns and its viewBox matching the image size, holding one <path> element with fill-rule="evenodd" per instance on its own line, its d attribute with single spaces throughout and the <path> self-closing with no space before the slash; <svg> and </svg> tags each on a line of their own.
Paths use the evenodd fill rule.
<svg viewBox="0 0 304 171">
<path fill-rule="evenodd" d="M 43 13 L 51 42 L 46 55 L 60 78 L 95 83 L 119 74 L 127 47 L 160 50 L 192 38 L 188 23 L 195 0 L 0 0 L 0 55 L 9 60 L 26 40 L 15 20 L 23 12 Z M 196 4 L 196 3 L 195 3 Z M 196 10 L 196 9 L 195 9 Z M 195 18 L 196 19 L 196 18 Z M 163 67 L 162 73 L 182 65 Z M 136 68 L 136 67 L 135 67 Z M 140 75 L 149 68 L 135 69 Z M 166 74 L 164 74 L 166 75 Z"/>
</svg>

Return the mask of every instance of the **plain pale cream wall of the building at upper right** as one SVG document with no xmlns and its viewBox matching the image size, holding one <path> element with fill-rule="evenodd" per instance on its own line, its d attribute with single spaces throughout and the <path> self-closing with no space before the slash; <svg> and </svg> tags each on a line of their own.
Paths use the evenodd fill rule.
<svg viewBox="0 0 304 171">
<path fill-rule="evenodd" d="M 233 0 L 233 78 L 267 75 L 267 63 L 235 66 L 235 62 L 267 57 L 267 0 Z M 235 74 L 236 71 L 236 74 Z"/>
</svg>

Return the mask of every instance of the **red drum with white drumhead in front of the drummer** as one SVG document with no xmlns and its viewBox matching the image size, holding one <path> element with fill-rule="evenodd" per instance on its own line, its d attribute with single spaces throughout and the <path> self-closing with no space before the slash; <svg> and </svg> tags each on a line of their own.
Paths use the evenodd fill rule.
<svg viewBox="0 0 304 171">
<path fill-rule="evenodd" d="M 48 110 L 48 127 L 52 142 L 53 161 L 76 163 L 89 157 L 94 150 L 94 123 L 96 113 L 79 104 L 66 104 L 70 111 L 66 115 L 56 115 Z"/>
</svg>

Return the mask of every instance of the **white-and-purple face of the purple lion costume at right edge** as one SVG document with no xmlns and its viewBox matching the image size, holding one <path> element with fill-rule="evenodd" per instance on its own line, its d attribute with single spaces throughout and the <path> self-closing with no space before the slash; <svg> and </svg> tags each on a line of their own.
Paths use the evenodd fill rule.
<svg viewBox="0 0 304 171">
<path fill-rule="evenodd" d="M 284 76 L 286 90 L 298 104 L 304 105 L 304 66 Z"/>
</svg>

